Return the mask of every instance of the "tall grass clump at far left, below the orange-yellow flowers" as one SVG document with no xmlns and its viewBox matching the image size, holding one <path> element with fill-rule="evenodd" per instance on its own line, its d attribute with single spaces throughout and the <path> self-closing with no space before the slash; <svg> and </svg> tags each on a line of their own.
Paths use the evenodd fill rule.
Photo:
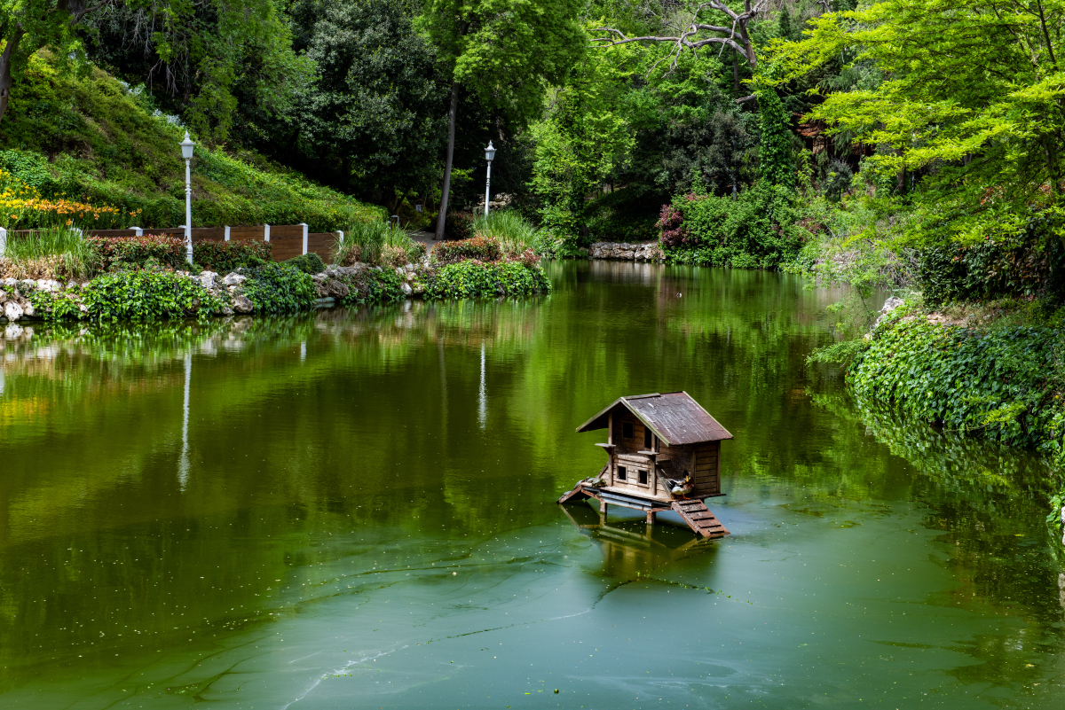
<svg viewBox="0 0 1065 710">
<path fill-rule="evenodd" d="M 96 252 L 81 232 L 50 226 L 9 234 L 0 271 L 14 278 L 88 278 Z"/>
</svg>

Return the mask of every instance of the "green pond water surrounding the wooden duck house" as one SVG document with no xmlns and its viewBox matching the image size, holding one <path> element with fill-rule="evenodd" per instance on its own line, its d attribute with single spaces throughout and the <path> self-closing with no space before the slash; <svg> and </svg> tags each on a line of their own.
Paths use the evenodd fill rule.
<svg viewBox="0 0 1065 710">
<path fill-rule="evenodd" d="M 805 366 L 839 293 L 550 270 L 520 303 L 7 328 L 0 707 L 1065 705 L 1044 466 Z M 732 536 L 555 503 L 604 461 L 578 424 L 679 389 L 735 435 Z"/>
</svg>

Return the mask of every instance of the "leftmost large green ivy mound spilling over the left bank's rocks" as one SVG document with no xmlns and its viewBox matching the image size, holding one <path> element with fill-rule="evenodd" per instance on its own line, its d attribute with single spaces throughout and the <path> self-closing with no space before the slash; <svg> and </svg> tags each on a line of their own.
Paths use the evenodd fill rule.
<svg viewBox="0 0 1065 710">
<path fill-rule="evenodd" d="M 204 318 L 224 307 L 199 282 L 173 272 L 124 271 L 97 276 L 81 291 L 81 301 L 87 307 L 82 316 L 96 321 Z M 77 304 L 71 295 L 54 299 L 53 318 L 75 312 Z"/>
</svg>

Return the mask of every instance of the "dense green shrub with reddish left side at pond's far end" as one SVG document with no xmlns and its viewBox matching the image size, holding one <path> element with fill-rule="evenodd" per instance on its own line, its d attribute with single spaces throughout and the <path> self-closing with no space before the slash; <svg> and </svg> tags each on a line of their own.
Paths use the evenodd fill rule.
<svg viewBox="0 0 1065 710">
<path fill-rule="evenodd" d="M 808 236 L 796 225 L 790 191 L 765 181 L 736 200 L 688 195 L 672 207 L 684 221 L 663 210 L 660 238 L 670 261 L 772 269 L 793 259 Z"/>
</svg>

